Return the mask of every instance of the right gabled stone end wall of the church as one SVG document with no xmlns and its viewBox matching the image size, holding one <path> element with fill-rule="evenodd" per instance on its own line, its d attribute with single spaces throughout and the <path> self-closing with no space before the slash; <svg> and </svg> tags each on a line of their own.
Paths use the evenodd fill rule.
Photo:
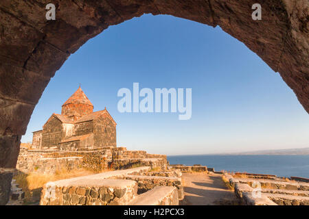
<svg viewBox="0 0 309 219">
<path fill-rule="evenodd" d="M 95 147 L 117 146 L 116 126 L 108 116 L 100 116 L 94 121 L 93 140 Z"/>
</svg>

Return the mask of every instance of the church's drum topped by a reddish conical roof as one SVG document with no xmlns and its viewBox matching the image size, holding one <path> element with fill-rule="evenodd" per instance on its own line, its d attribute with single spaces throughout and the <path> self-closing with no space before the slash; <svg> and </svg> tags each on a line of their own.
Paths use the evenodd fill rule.
<svg viewBox="0 0 309 219">
<path fill-rule="evenodd" d="M 82 91 L 82 88 L 78 88 L 72 96 L 70 96 L 62 105 L 61 114 L 69 116 L 71 120 L 77 120 L 82 116 L 91 114 L 93 112 L 93 105 L 89 101 L 88 97 Z"/>
</svg>

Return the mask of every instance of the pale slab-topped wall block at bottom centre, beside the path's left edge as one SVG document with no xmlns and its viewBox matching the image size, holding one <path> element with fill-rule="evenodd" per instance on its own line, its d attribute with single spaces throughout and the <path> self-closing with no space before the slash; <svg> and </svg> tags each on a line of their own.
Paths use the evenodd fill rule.
<svg viewBox="0 0 309 219">
<path fill-rule="evenodd" d="M 128 205 L 179 205 L 178 192 L 173 186 L 157 186 L 135 196 Z"/>
</svg>

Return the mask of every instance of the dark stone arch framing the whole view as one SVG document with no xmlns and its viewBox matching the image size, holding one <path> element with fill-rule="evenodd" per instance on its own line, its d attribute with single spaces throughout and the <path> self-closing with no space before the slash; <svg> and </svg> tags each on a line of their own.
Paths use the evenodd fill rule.
<svg viewBox="0 0 309 219">
<path fill-rule="evenodd" d="M 0 168 L 16 166 L 32 111 L 69 55 L 108 26 L 145 13 L 219 25 L 279 72 L 309 112 L 308 0 L 52 2 L 56 21 L 45 18 L 50 1 L 0 2 Z M 251 18 L 253 3 L 262 5 L 261 21 Z"/>
</svg>

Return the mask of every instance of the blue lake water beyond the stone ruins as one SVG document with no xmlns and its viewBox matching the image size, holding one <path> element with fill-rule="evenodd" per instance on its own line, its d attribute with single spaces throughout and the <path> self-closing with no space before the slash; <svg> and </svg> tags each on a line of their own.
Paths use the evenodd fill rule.
<svg viewBox="0 0 309 219">
<path fill-rule="evenodd" d="M 309 155 L 179 155 L 170 164 L 201 164 L 216 171 L 251 172 L 309 178 Z"/>
</svg>

